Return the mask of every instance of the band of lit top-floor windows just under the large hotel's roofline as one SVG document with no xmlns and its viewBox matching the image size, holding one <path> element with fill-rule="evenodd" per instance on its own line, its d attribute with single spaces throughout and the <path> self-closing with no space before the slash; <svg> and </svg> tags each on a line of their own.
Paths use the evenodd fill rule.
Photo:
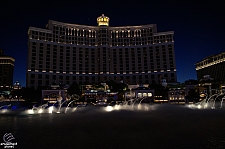
<svg viewBox="0 0 225 149">
<path fill-rule="evenodd" d="M 76 30 L 77 31 L 77 30 Z M 78 32 L 81 32 L 78 34 Z M 85 44 L 85 45 L 95 45 L 97 40 L 94 40 L 96 38 L 106 38 L 108 37 L 113 39 L 130 39 L 126 45 L 141 45 L 141 44 L 156 44 L 156 43 L 165 43 L 165 42 L 172 42 L 173 41 L 173 34 L 166 34 L 166 35 L 154 35 L 151 38 L 149 36 L 144 36 L 143 32 L 137 30 L 137 31 L 131 31 L 131 35 L 129 31 L 126 32 L 118 32 L 118 31 L 111 31 L 111 35 L 105 34 L 105 33 L 99 33 L 97 36 L 95 32 L 93 31 L 86 31 L 86 30 L 78 30 L 76 33 L 77 36 L 67 36 L 70 35 L 70 33 L 63 32 L 63 34 L 59 34 L 58 32 L 55 33 L 55 30 L 53 31 L 53 37 L 51 39 L 51 35 L 49 33 L 44 32 L 38 32 L 38 31 L 31 31 L 31 39 L 38 39 L 38 40 L 45 40 L 45 41 L 52 41 L 52 42 L 59 42 L 64 44 Z M 127 34 L 126 34 L 127 33 Z M 127 35 L 127 36 L 126 36 Z M 74 38 L 75 37 L 75 38 Z M 145 38 L 140 38 L 145 37 Z M 148 37 L 148 38 L 147 38 Z M 153 37 L 153 38 L 152 38 Z M 89 40 L 91 39 L 91 40 Z M 134 41 L 133 41 L 134 40 Z M 109 40 L 110 41 L 110 40 Z M 138 41 L 145 41 L 146 43 L 138 43 Z M 99 44 L 107 44 L 108 42 L 100 42 Z M 115 46 L 121 45 L 120 41 L 112 40 L 112 44 L 116 44 Z"/>
</svg>

